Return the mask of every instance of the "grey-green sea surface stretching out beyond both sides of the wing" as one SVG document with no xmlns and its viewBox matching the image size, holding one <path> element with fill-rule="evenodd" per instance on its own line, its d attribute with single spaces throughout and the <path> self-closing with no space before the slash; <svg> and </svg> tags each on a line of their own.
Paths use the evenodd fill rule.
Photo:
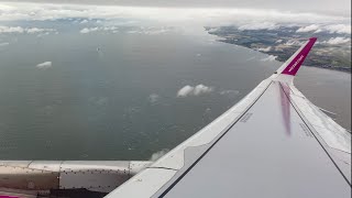
<svg viewBox="0 0 352 198">
<path fill-rule="evenodd" d="M 282 64 L 206 31 L 80 33 L 65 22 L 35 25 L 57 32 L 0 34 L 8 43 L 0 46 L 1 160 L 148 160 L 211 122 Z M 350 74 L 304 67 L 295 84 L 351 129 Z M 197 85 L 202 91 L 177 95 Z"/>
</svg>

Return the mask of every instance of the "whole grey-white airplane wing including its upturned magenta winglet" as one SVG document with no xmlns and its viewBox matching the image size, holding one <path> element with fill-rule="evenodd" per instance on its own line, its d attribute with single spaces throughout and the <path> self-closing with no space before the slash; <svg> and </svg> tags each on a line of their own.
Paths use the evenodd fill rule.
<svg viewBox="0 0 352 198">
<path fill-rule="evenodd" d="M 293 84 L 316 40 L 107 197 L 351 197 L 351 134 Z"/>
</svg>

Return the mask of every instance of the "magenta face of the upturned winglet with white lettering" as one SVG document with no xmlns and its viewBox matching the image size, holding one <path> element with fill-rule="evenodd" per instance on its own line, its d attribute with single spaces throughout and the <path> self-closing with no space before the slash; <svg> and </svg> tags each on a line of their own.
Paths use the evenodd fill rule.
<svg viewBox="0 0 352 198">
<path fill-rule="evenodd" d="M 297 56 L 287 65 L 287 67 L 282 72 L 285 75 L 295 76 L 299 67 L 308 56 L 308 53 L 312 45 L 316 43 L 317 37 L 310 37 L 306 46 L 297 54 Z"/>
</svg>

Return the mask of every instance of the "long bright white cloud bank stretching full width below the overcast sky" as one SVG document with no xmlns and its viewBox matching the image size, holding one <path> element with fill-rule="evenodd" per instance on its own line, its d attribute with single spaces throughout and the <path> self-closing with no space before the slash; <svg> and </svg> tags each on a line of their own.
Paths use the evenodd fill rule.
<svg viewBox="0 0 352 198">
<path fill-rule="evenodd" d="M 246 24 L 255 25 L 243 29 L 275 29 L 275 23 L 307 24 L 326 22 L 327 24 L 350 23 L 350 18 L 323 15 L 316 13 L 297 13 L 265 9 L 243 8 L 153 8 L 153 7 L 119 7 L 119 6 L 88 6 L 88 4 L 51 4 L 28 2 L 1 2 L 0 21 L 16 20 L 56 20 L 56 19 L 147 19 L 157 22 L 173 22 L 182 25 L 223 25 Z M 270 22 L 268 22 L 270 21 Z M 98 22 L 98 21 L 97 21 Z M 262 25 L 261 25 L 262 24 Z"/>
</svg>

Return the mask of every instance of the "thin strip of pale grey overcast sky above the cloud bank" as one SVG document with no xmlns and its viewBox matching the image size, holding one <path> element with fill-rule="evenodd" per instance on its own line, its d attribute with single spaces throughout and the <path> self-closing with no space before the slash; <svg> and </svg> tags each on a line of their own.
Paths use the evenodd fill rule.
<svg viewBox="0 0 352 198">
<path fill-rule="evenodd" d="M 1 0 L 0 0 L 1 1 Z M 13 0 L 23 2 L 23 0 Z M 11 1 L 11 2 L 13 2 Z M 28 2 L 138 7 L 250 8 L 351 15 L 351 0 L 29 0 Z"/>
</svg>

